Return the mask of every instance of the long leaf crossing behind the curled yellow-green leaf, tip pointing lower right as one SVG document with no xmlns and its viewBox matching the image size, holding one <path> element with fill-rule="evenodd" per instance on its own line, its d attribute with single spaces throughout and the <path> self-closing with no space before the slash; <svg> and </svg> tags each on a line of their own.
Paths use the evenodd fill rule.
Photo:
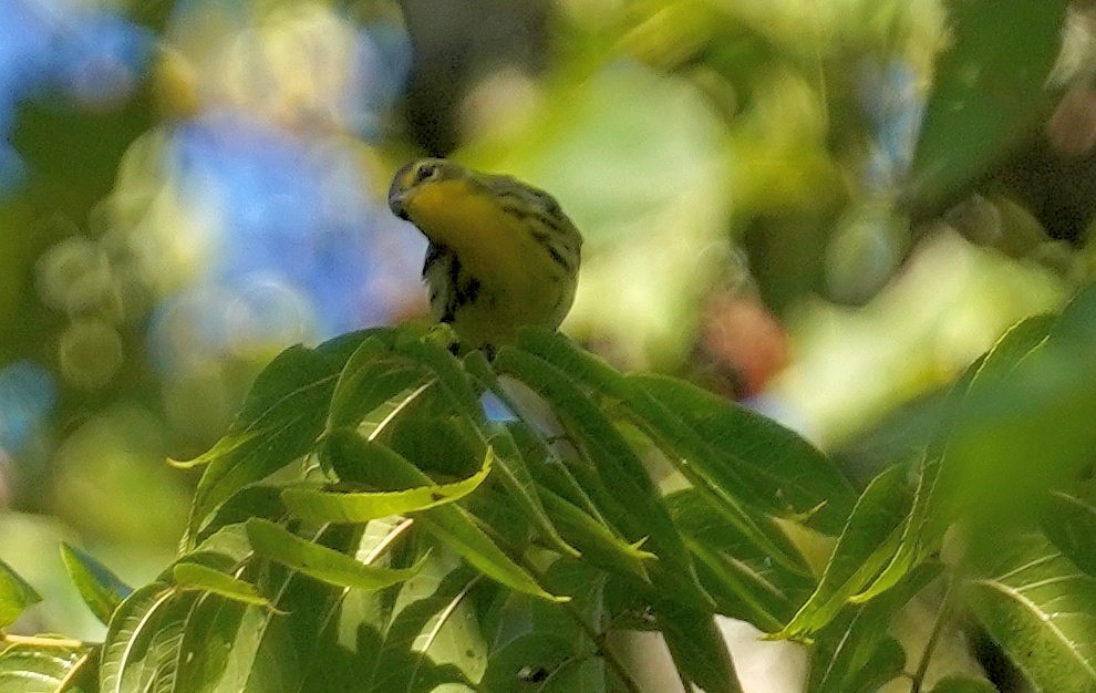
<svg viewBox="0 0 1096 693">
<path fill-rule="evenodd" d="M 363 441 L 351 431 L 335 431 L 324 438 L 323 452 L 340 478 L 351 483 L 381 487 L 407 488 L 431 484 L 400 454 L 372 441 Z M 478 568 L 487 577 L 507 587 L 542 599 L 558 600 L 549 594 L 529 572 L 514 562 L 473 517 L 457 505 L 443 505 L 415 517 L 426 531 Z"/>
</svg>

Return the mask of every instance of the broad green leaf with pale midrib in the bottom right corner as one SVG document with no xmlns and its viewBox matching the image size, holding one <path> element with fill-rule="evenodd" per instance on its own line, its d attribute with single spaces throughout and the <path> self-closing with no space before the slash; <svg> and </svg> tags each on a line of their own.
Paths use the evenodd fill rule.
<svg viewBox="0 0 1096 693">
<path fill-rule="evenodd" d="M 1096 578 L 1037 534 L 982 548 L 970 604 L 990 637 L 1036 690 L 1096 690 Z"/>
</svg>

